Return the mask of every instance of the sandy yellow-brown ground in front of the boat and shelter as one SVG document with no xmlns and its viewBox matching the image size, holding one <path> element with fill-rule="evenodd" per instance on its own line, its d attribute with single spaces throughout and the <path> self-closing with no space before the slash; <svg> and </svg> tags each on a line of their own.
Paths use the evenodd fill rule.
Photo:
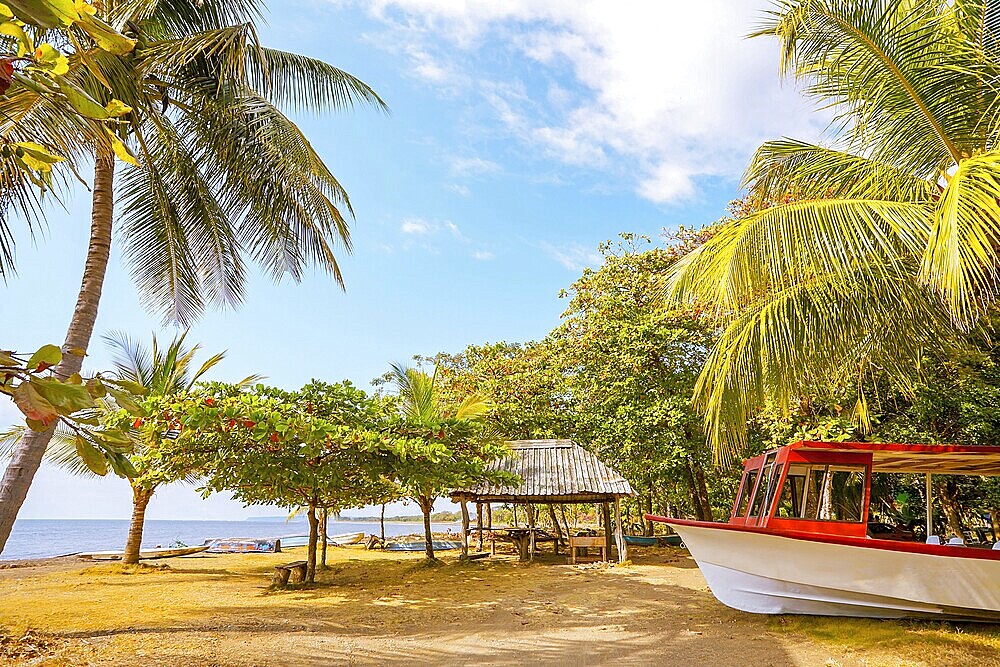
<svg viewBox="0 0 1000 667">
<path fill-rule="evenodd" d="M 273 566 L 303 551 L 139 569 L 71 558 L 8 565 L 0 662 L 1000 665 L 991 626 L 733 611 L 680 549 L 636 549 L 630 565 L 607 567 L 551 555 L 533 564 L 445 555 L 427 566 L 421 554 L 339 548 L 315 586 L 270 589 Z"/>
</svg>

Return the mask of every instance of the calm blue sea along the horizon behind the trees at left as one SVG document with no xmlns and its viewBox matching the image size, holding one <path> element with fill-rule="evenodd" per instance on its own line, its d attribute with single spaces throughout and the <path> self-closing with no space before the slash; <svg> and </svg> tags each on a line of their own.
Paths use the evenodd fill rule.
<svg viewBox="0 0 1000 667">
<path fill-rule="evenodd" d="M 121 549 L 128 536 L 125 519 L 18 519 L 0 554 L 0 560 L 45 558 L 81 551 Z M 433 524 L 435 532 L 458 531 L 456 524 Z M 378 523 L 331 521 L 330 535 L 364 531 L 378 534 Z M 305 521 L 146 521 L 142 546 L 168 547 L 175 542 L 201 544 L 210 537 L 282 537 L 309 532 Z M 386 536 L 411 535 L 423 532 L 420 523 L 385 524 Z"/>
</svg>

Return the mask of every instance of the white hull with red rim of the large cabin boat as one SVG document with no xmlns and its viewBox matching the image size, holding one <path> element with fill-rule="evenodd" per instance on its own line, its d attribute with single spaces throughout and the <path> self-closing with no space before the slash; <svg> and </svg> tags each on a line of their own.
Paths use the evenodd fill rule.
<svg viewBox="0 0 1000 667">
<path fill-rule="evenodd" d="M 684 538 L 715 597 L 735 609 L 1000 622 L 994 558 L 667 523 Z"/>
</svg>

